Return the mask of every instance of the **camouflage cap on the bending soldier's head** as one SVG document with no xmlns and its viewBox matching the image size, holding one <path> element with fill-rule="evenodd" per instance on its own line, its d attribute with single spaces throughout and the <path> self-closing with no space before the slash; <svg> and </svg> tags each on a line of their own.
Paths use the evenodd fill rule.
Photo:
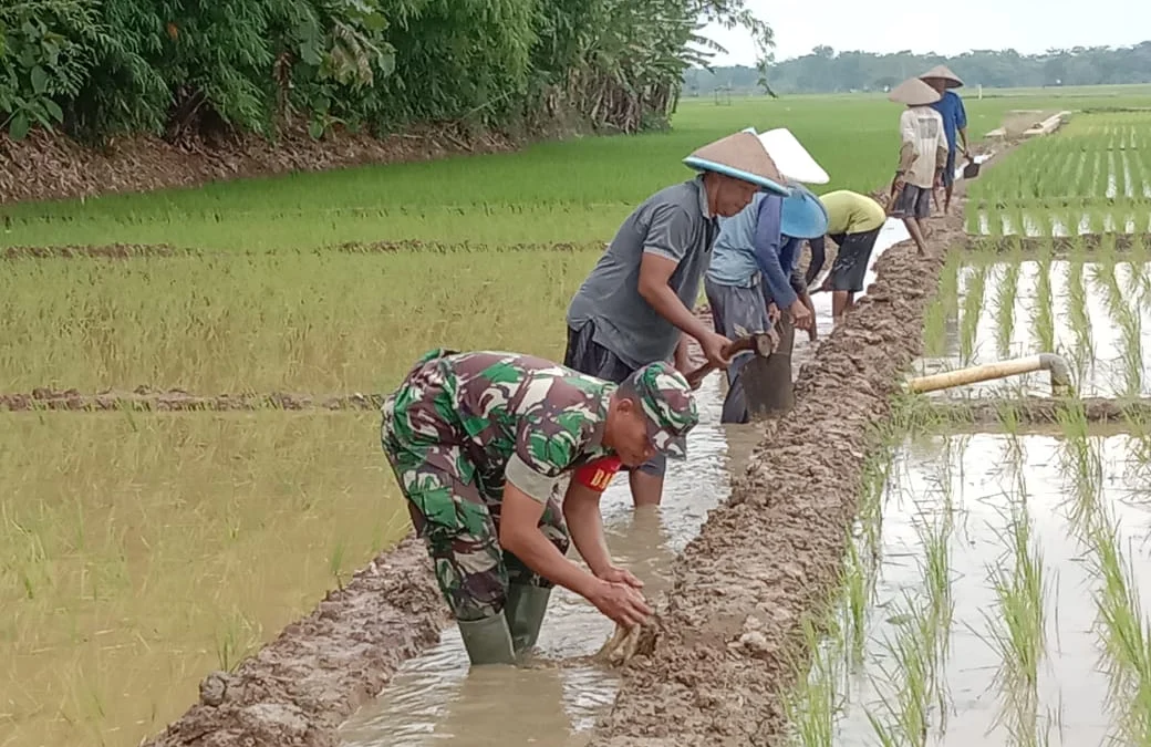
<svg viewBox="0 0 1151 747">
<path fill-rule="evenodd" d="M 687 432 L 700 416 L 695 397 L 684 374 L 668 363 L 654 363 L 633 373 L 624 388 L 634 392 L 648 419 L 651 444 L 661 453 L 681 458 L 687 451 Z"/>
</svg>

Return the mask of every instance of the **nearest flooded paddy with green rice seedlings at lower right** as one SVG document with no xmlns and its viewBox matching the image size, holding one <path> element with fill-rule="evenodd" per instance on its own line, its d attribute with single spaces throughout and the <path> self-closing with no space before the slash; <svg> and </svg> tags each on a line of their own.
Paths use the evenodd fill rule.
<svg viewBox="0 0 1151 747">
<path fill-rule="evenodd" d="M 1145 744 L 1151 441 L 925 435 L 876 460 L 800 744 Z"/>
</svg>

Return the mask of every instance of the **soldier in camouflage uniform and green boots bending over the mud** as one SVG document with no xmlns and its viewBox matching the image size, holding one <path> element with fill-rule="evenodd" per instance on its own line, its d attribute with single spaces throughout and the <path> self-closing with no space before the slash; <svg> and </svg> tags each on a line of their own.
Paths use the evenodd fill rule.
<svg viewBox="0 0 1151 747">
<path fill-rule="evenodd" d="M 437 349 L 381 412 L 383 450 L 473 664 L 534 646 L 556 584 L 624 625 L 650 613 L 640 581 L 611 563 L 599 497 L 620 464 L 683 453 L 699 417 L 671 365 L 615 384 L 531 356 Z M 569 525 L 592 573 L 564 557 Z"/>
</svg>

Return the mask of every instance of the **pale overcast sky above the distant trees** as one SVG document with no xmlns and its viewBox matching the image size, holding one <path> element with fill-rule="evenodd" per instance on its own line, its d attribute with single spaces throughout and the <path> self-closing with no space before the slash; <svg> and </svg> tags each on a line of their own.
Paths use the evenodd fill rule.
<svg viewBox="0 0 1151 747">
<path fill-rule="evenodd" d="M 860 0 L 748 0 L 776 32 L 776 60 L 826 44 L 837 52 L 960 54 L 1004 49 L 1021 54 L 1049 47 L 1128 46 L 1151 39 L 1146 0 L 966 0 L 960 2 L 860 2 Z M 945 15 L 927 9 L 939 8 Z M 898 13 L 897 13 L 898 10 Z M 708 28 L 724 47 L 715 64 L 754 64 L 746 31 Z"/>
</svg>

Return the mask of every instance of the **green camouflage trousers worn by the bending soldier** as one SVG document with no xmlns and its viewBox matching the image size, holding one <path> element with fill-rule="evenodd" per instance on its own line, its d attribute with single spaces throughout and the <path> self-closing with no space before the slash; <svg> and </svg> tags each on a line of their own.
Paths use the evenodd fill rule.
<svg viewBox="0 0 1151 747">
<path fill-rule="evenodd" d="M 416 414 L 426 430 L 428 405 L 412 395 L 434 390 L 436 375 L 434 365 L 417 367 L 384 401 L 381 442 L 452 615 L 458 620 L 478 620 L 503 611 L 509 584 L 543 588 L 554 584 L 500 547 L 502 496 L 480 489 L 480 475 L 488 470 L 468 457 L 465 437 L 443 420 L 435 436 L 397 427 Z M 540 529 L 566 555 L 570 538 L 561 495 L 548 501 Z"/>
</svg>

